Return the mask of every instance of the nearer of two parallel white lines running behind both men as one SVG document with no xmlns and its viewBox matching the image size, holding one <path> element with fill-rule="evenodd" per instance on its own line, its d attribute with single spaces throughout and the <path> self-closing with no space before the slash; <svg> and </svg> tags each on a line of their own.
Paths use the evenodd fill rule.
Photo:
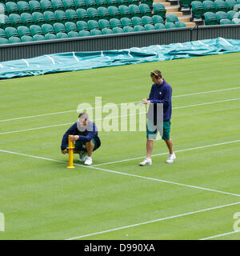
<svg viewBox="0 0 240 256">
<path fill-rule="evenodd" d="M 177 106 L 177 107 L 173 107 L 173 110 L 183 109 L 183 108 L 187 108 L 187 107 L 194 107 L 194 106 L 204 106 L 204 105 L 210 105 L 210 104 L 222 103 L 222 102 L 232 102 L 232 101 L 238 101 L 238 100 L 240 100 L 240 98 L 230 98 L 230 99 L 226 99 L 226 100 L 222 100 L 222 101 L 218 101 L 218 102 L 205 102 L 205 103 L 199 103 L 199 104 L 188 105 L 188 106 Z M 126 114 L 126 115 L 122 115 L 122 116 L 121 115 L 120 116 L 114 116 L 114 117 L 110 117 L 110 118 L 120 118 L 120 117 L 130 116 L 130 115 L 133 115 L 133 114 Z M 102 118 L 100 118 L 98 120 L 102 120 Z M 30 128 L 30 129 L 24 129 L 24 130 L 6 131 L 6 132 L 3 132 L 3 133 L 0 133 L 0 135 L 2 135 L 2 134 L 14 134 L 14 133 L 19 133 L 19 132 L 23 132 L 23 131 L 45 129 L 45 128 L 51 128 L 51 127 L 57 127 L 57 126 L 66 126 L 66 125 L 69 125 L 69 124 L 72 124 L 72 123 L 73 122 L 67 122 L 67 123 L 62 123 L 62 124 L 53 125 L 53 126 L 42 126 L 42 127 L 36 127 L 36 128 Z"/>
</svg>

